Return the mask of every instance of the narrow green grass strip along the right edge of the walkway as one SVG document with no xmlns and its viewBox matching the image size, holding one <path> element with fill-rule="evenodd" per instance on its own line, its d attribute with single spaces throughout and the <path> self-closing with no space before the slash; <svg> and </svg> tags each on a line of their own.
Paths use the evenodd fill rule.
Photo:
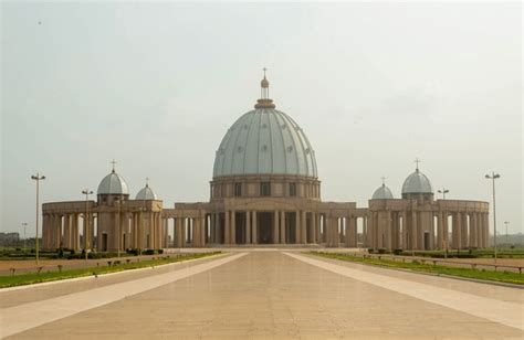
<svg viewBox="0 0 524 340">
<path fill-rule="evenodd" d="M 470 268 L 458 268 L 458 267 L 448 267 L 442 265 L 426 265 L 420 263 L 404 263 L 395 262 L 391 259 L 378 259 L 370 257 L 357 257 L 350 254 L 336 254 L 336 253 L 322 253 L 322 252 L 310 252 L 313 255 L 335 258 L 340 261 L 356 262 L 361 264 L 368 264 L 374 266 L 381 266 L 388 268 L 401 268 L 410 269 L 413 272 L 420 273 L 431 273 L 437 275 L 450 275 L 458 277 L 467 277 L 474 279 L 483 279 L 499 283 L 516 284 L 524 285 L 524 275 L 518 273 L 511 272 L 493 272 L 493 270 L 482 270 L 482 269 L 470 269 Z"/>
</svg>

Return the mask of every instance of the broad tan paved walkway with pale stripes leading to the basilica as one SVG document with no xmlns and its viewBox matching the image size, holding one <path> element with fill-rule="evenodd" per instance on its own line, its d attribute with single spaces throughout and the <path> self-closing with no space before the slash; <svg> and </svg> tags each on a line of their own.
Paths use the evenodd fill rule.
<svg viewBox="0 0 524 340">
<path fill-rule="evenodd" d="M 163 270 L 66 295 L 77 283 L 0 291 L 0 329 L 27 339 L 523 336 L 522 289 L 464 283 L 469 294 L 454 289 L 454 279 L 371 273 L 290 251 L 239 252 Z M 35 302 L 9 302 L 38 289 Z"/>
</svg>

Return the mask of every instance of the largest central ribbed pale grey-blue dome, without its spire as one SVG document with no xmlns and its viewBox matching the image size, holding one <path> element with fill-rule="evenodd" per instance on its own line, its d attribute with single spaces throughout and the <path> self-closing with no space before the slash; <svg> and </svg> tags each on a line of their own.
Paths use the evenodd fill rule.
<svg viewBox="0 0 524 340">
<path fill-rule="evenodd" d="M 259 99 L 259 107 L 261 100 Z M 213 177 L 300 174 L 317 178 L 315 152 L 298 125 L 271 106 L 241 116 L 214 158 Z"/>
</svg>

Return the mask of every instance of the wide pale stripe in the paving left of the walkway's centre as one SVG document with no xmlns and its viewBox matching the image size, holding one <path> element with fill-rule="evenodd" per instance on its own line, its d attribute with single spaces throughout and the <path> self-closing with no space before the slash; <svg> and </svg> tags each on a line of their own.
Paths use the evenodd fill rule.
<svg viewBox="0 0 524 340">
<path fill-rule="evenodd" d="M 0 337 L 9 337 L 82 311 L 171 284 L 235 261 L 248 253 L 217 258 L 176 272 L 157 274 L 46 300 L 0 309 Z"/>
</svg>

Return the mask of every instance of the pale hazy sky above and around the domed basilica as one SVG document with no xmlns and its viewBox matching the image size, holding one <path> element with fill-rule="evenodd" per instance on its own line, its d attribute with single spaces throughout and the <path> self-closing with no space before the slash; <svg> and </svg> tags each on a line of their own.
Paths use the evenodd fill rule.
<svg viewBox="0 0 524 340">
<path fill-rule="evenodd" d="M 1 230 L 82 200 L 111 171 L 134 196 L 209 200 L 214 151 L 260 95 L 316 151 L 324 201 L 396 198 L 420 169 L 522 231 L 522 8 L 501 3 L 1 4 Z M 437 195 L 437 194 L 436 194 Z M 440 196 L 440 195 L 439 195 Z"/>
</svg>

